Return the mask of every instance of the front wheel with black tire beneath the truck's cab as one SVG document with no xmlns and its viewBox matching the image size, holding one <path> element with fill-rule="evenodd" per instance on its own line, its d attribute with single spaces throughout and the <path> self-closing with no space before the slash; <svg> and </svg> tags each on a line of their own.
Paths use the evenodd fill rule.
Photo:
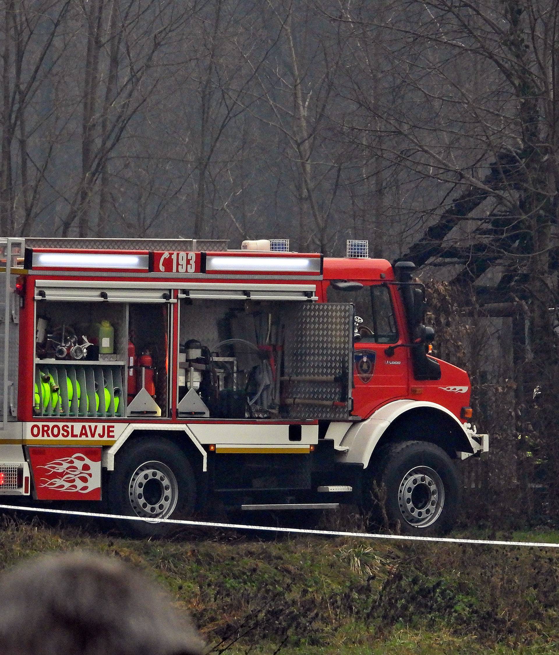
<svg viewBox="0 0 559 655">
<path fill-rule="evenodd" d="M 374 456 L 373 456 L 374 457 Z M 460 482 L 452 459 L 426 441 L 383 447 L 364 485 L 364 510 L 401 534 L 448 533 L 460 507 Z"/>
</svg>

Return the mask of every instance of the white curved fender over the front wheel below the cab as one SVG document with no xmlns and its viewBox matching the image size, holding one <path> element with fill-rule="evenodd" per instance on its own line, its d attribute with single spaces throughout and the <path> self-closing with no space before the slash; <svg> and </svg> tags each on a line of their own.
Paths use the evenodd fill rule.
<svg viewBox="0 0 559 655">
<path fill-rule="evenodd" d="M 395 400 L 349 428 L 340 444 L 347 451 L 339 460 L 367 468 L 378 447 L 403 439 L 435 443 L 453 458 L 457 451 L 474 453 L 467 428 L 446 407 L 427 401 Z"/>
</svg>

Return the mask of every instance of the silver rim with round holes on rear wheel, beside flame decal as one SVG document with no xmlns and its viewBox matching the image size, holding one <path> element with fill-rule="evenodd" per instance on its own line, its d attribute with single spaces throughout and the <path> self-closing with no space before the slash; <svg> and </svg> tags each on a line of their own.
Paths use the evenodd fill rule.
<svg viewBox="0 0 559 655">
<path fill-rule="evenodd" d="M 178 501 L 176 477 L 163 462 L 144 462 L 130 478 L 128 496 L 138 516 L 165 519 Z"/>
</svg>

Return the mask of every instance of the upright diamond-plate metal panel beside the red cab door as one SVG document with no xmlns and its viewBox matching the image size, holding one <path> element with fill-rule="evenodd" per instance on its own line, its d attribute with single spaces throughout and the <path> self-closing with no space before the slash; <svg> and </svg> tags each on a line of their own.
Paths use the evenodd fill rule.
<svg viewBox="0 0 559 655">
<path fill-rule="evenodd" d="M 353 357 L 353 305 L 347 303 L 307 304 L 286 311 L 284 377 L 336 377 L 336 381 L 286 381 L 282 398 L 332 405 L 297 404 L 287 407 L 297 419 L 345 419 L 351 410 Z"/>
</svg>

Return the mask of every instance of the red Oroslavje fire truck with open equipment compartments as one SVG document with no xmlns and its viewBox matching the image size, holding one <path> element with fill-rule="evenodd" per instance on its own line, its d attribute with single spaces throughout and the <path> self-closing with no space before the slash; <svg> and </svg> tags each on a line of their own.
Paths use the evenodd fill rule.
<svg viewBox="0 0 559 655">
<path fill-rule="evenodd" d="M 467 373 L 429 355 L 414 265 L 284 245 L 4 239 L 0 494 L 145 535 L 341 503 L 448 531 L 454 460 L 488 437 Z"/>
</svg>

